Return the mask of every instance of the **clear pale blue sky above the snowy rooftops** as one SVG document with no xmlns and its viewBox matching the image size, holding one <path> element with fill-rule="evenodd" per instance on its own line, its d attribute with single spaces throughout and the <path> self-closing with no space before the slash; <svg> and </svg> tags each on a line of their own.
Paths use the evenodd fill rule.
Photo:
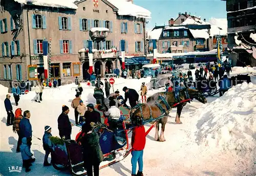
<svg viewBox="0 0 256 176">
<path fill-rule="evenodd" d="M 226 2 L 221 0 L 134 0 L 134 4 L 151 11 L 150 23 L 147 29 L 161 25 L 168 25 L 170 18 L 176 19 L 179 12 L 191 13 L 201 16 L 201 19 L 209 20 L 211 17 L 226 18 Z"/>
</svg>

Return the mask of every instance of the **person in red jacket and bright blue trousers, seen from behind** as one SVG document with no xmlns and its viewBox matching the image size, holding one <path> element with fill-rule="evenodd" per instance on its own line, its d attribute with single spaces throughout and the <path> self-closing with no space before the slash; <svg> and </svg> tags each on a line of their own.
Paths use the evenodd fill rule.
<svg viewBox="0 0 256 176">
<path fill-rule="evenodd" d="M 143 176 L 143 149 L 146 143 L 145 128 L 142 125 L 140 117 L 135 117 L 135 122 L 138 126 L 133 128 L 132 135 L 132 176 Z M 136 174 L 137 162 L 139 164 L 139 171 Z"/>
</svg>

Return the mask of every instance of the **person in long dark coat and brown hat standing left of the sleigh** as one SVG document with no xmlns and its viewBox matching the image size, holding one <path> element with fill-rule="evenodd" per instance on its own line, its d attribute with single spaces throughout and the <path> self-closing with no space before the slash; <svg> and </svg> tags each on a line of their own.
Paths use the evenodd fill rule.
<svg viewBox="0 0 256 176">
<path fill-rule="evenodd" d="M 62 113 L 58 117 L 58 129 L 59 129 L 59 136 L 61 139 L 70 140 L 71 139 L 71 131 L 72 126 L 74 126 L 69 121 L 69 107 L 66 105 L 62 106 Z"/>
</svg>

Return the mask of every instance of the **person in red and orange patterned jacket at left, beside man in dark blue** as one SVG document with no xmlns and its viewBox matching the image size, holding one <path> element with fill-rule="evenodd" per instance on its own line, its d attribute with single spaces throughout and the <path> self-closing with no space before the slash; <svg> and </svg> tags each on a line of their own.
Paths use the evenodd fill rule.
<svg viewBox="0 0 256 176">
<path fill-rule="evenodd" d="M 15 119 L 13 121 L 13 126 L 12 126 L 13 133 L 17 133 L 18 135 L 16 153 L 20 152 L 19 146 L 22 145 L 22 137 L 20 136 L 20 130 L 19 130 L 19 123 L 22 120 L 22 118 L 23 118 L 22 109 L 17 108 L 15 111 Z"/>
</svg>

